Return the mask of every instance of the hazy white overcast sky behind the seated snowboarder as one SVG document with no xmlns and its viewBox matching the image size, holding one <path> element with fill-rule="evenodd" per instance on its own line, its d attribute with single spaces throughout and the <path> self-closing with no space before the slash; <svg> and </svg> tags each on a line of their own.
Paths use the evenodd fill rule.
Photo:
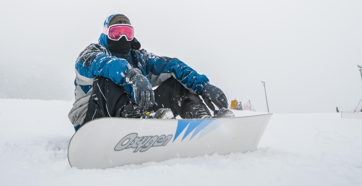
<svg viewBox="0 0 362 186">
<path fill-rule="evenodd" d="M 104 19 L 257 111 L 335 112 L 362 98 L 362 1 L 4 1 L 0 98 L 74 99 L 74 63 Z"/>
</svg>

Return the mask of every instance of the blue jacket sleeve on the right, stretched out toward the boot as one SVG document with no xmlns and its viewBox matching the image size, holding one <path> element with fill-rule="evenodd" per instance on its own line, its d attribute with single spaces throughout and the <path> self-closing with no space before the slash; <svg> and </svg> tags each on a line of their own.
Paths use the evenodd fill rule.
<svg viewBox="0 0 362 186">
<path fill-rule="evenodd" d="M 200 95 L 203 88 L 210 84 L 206 75 L 198 74 L 180 59 L 157 56 L 152 53 L 147 53 L 146 73 L 151 79 L 152 86 L 157 86 L 172 76 L 197 95 Z"/>
</svg>

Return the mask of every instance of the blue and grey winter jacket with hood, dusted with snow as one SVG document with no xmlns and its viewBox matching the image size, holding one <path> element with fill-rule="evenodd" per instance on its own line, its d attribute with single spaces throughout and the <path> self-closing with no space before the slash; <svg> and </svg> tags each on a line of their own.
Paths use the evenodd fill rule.
<svg viewBox="0 0 362 186">
<path fill-rule="evenodd" d="M 104 26 L 108 27 L 110 18 L 111 16 L 106 19 Z M 97 76 L 109 78 L 124 86 L 131 92 L 132 99 L 132 87 L 126 82 L 127 71 L 132 68 L 139 69 L 150 80 L 152 87 L 173 77 L 190 92 L 200 95 L 203 88 L 210 84 L 205 75 L 198 74 L 177 58 L 157 56 L 144 49 L 130 50 L 128 54 L 113 54 L 108 49 L 107 36 L 103 33 L 98 42 L 87 46 L 75 63 L 75 102 L 68 115 L 74 127 L 83 124 L 93 90 L 93 80 Z"/>
</svg>

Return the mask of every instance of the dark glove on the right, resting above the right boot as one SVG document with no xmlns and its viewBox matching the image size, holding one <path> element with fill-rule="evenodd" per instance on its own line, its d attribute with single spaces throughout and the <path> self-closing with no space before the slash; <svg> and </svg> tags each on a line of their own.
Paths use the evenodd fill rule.
<svg viewBox="0 0 362 186">
<path fill-rule="evenodd" d="M 220 88 L 215 87 L 212 84 L 209 84 L 202 90 L 201 96 L 202 99 L 205 101 L 206 105 L 212 111 L 215 111 L 215 107 L 211 102 L 213 102 L 219 109 L 228 107 L 227 98 L 224 92 Z"/>
</svg>

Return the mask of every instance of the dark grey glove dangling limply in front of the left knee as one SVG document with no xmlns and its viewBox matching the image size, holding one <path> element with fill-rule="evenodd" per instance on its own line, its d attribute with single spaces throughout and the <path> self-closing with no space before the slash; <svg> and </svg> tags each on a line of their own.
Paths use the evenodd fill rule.
<svg viewBox="0 0 362 186">
<path fill-rule="evenodd" d="M 126 82 L 131 84 L 135 96 L 135 102 L 138 103 L 140 107 L 147 109 L 148 107 L 153 106 L 155 103 L 155 93 L 153 93 L 150 82 L 148 82 L 148 79 L 142 75 L 140 70 L 128 70 Z"/>
</svg>

